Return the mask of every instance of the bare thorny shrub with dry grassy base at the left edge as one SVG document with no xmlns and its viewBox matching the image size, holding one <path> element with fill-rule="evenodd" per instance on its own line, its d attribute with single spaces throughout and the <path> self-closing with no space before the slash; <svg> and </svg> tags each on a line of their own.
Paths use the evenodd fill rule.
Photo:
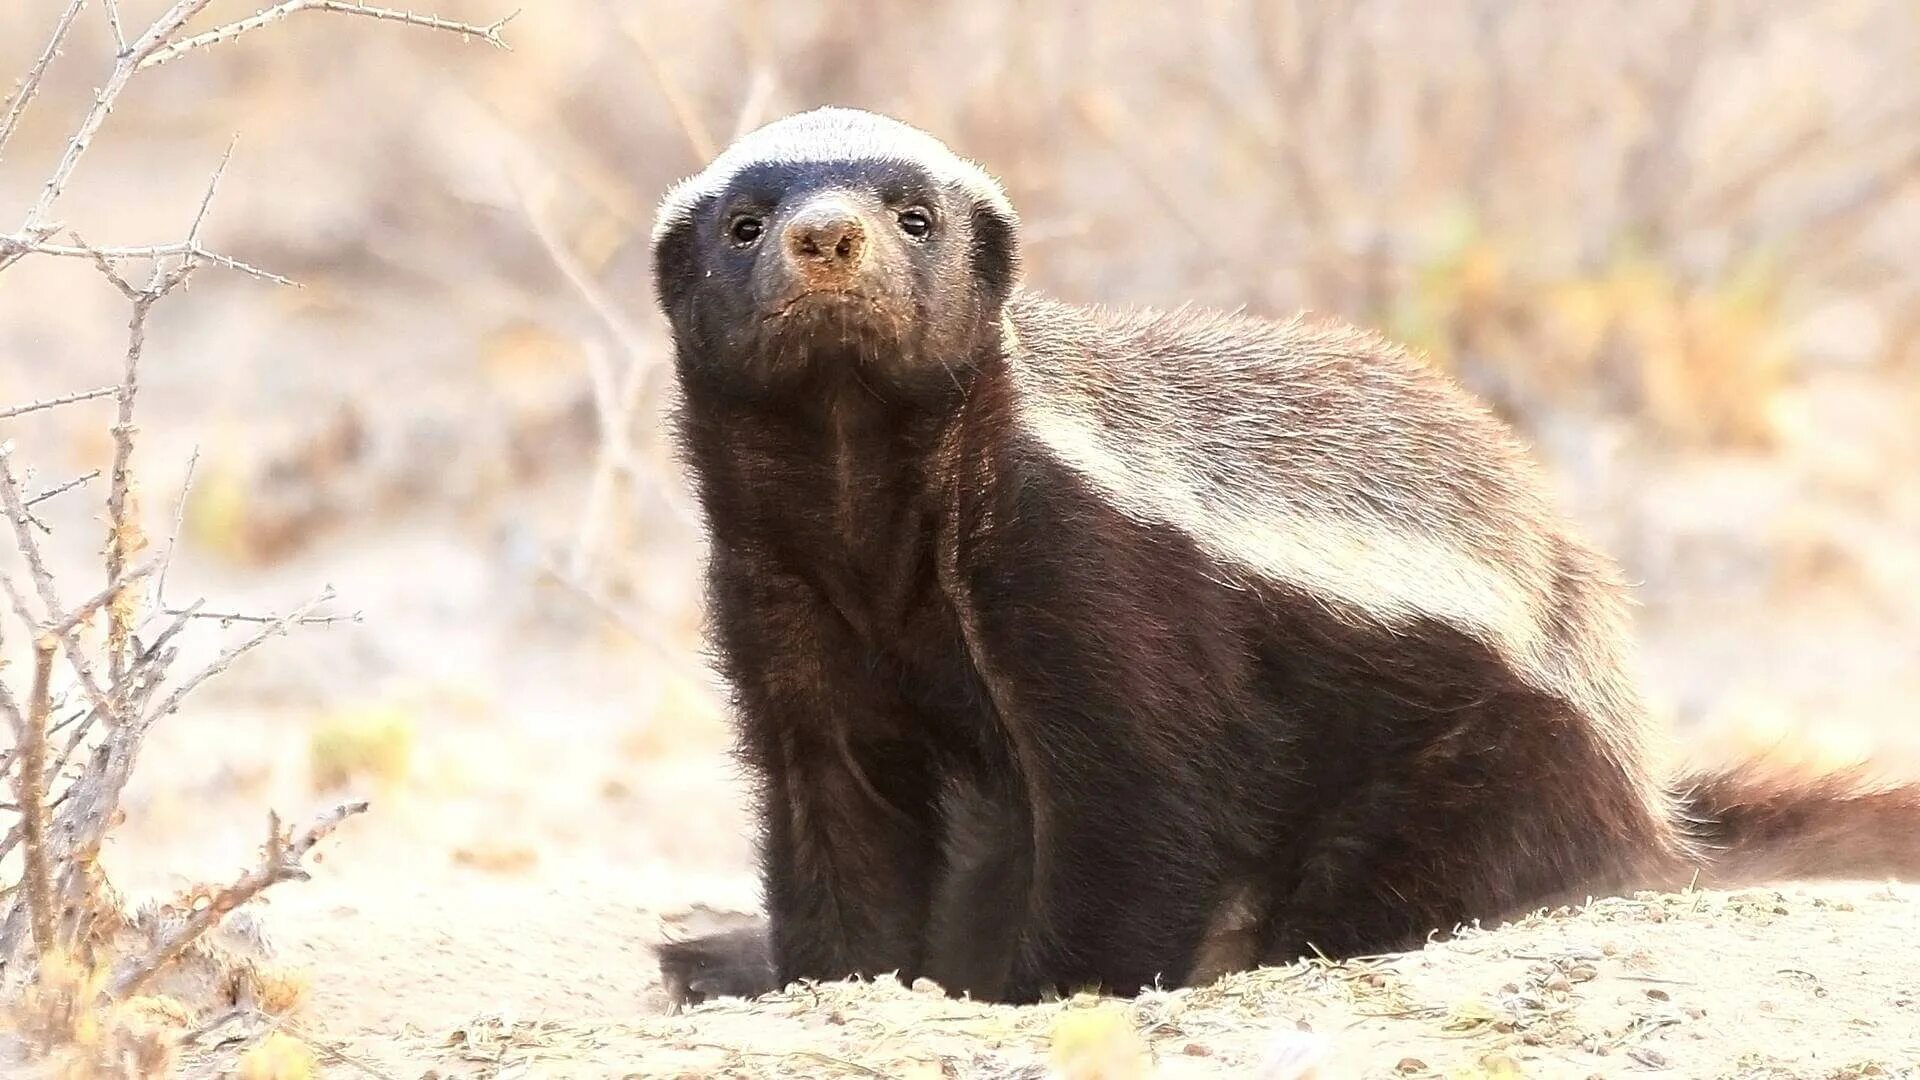
<svg viewBox="0 0 1920 1080">
<path fill-rule="evenodd" d="M 344 801 L 301 828 L 290 828 L 278 815 L 269 815 L 267 840 L 252 869 L 227 884 L 190 890 L 169 905 L 127 911 L 106 880 L 98 863 L 100 847 L 121 819 L 121 796 L 152 726 L 177 711 L 200 684 L 267 640 L 294 626 L 357 615 L 330 613 L 330 588 L 280 615 L 207 611 L 200 600 L 175 605 L 165 596 L 165 584 L 180 513 L 175 511 L 173 532 L 157 555 L 140 525 L 136 404 L 140 357 L 156 304 L 205 267 L 244 273 L 269 284 L 294 284 L 202 242 L 202 227 L 227 160 L 207 183 L 179 242 L 92 246 L 75 229 L 61 225 L 54 211 L 121 94 L 148 67 L 300 12 L 363 15 L 463 35 L 501 48 L 505 19 L 468 25 L 346 0 L 288 0 L 248 19 L 190 33 L 188 23 L 207 4 L 209 0 L 179 0 L 146 31 L 129 38 L 115 0 L 102 0 L 117 50 L 111 71 L 21 225 L 0 233 L 0 273 L 21 273 L 13 267 L 29 258 L 86 259 L 129 304 L 127 352 L 117 384 L 0 409 L 0 421 L 10 421 L 104 398 L 113 402 L 113 457 L 102 484 L 104 580 L 79 598 L 71 584 L 56 580 L 48 565 L 52 527 L 35 507 L 86 488 L 102 475 L 88 473 L 35 490 L 17 463 L 13 442 L 0 442 L 0 511 L 17 552 L 17 569 L 0 567 L 0 592 L 12 628 L 23 632 L 17 640 L 29 653 L 25 673 L 17 665 L 0 667 L 0 713 L 13 734 L 0 757 L 12 790 L 6 811 L 13 817 L 0 836 L 0 859 L 6 859 L 8 872 L 0 892 L 0 994 L 10 1036 L 0 1042 L 0 1061 L 10 1074 L 36 1065 L 61 1076 L 152 1076 L 171 1070 L 182 1053 L 211 1053 L 192 1049 L 194 1036 L 205 1034 L 209 1024 L 227 1028 L 236 1017 L 205 1020 L 179 1001 L 148 992 L 177 961 L 194 949 L 204 951 L 209 930 L 234 909 L 275 884 L 305 878 L 303 859 L 315 844 L 342 821 L 367 809 L 365 801 Z M 71 0 L 60 12 L 46 48 L 0 111 L 0 158 L 84 8 L 86 0 Z M 188 482 L 190 479 L 192 465 Z M 184 498 L 182 490 L 180 505 Z M 182 634 L 204 623 L 242 630 L 202 667 L 177 669 Z M 8 628 L 0 617 L 0 648 L 8 644 Z M 244 1026 L 238 1038 L 228 1030 L 219 1040 L 219 1055 L 238 1059 L 271 1036 L 273 1013 L 284 1011 L 298 997 L 296 992 L 286 992 L 284 980 L 259 978 L 257 972 L 250 986 L 250 999 L 238 1001 L 234 1013 L 246 1013 L 242 1020 L 261 1022 Z M 188 1030 L 192 1020 L 202 1020 L 198 1030 Z"/>
</svg>

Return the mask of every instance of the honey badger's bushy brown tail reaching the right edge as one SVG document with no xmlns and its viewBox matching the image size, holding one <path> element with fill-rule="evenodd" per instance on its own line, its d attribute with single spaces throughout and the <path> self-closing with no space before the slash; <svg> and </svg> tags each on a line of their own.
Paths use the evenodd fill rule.
<svg viewBox="0 0 1920 1080">
<path fill-rule="evenodd" d="M 1920 784 L 1878 780 L 1860 765 L 1751 759 L 1682 778 L 1678 803 L 1703 888 L 1795 878 L 1920 882 Z"/>
</svg>

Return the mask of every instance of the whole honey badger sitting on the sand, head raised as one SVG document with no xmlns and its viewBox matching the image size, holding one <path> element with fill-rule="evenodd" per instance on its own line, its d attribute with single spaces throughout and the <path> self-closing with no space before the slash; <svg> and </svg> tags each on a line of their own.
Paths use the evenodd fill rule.
<svg viewBox="0 0 1920 1080">
<path fill-rule="evenodd" d="M 1375 334 L 1029 292 L 979 165 L 841 108 L 653 244 L 768 909 L 662 945 L 676 997 L 1125 995 L 1920 869 L 1914 788 L 1676 774 L 1615 565 Z"/>
</svg>

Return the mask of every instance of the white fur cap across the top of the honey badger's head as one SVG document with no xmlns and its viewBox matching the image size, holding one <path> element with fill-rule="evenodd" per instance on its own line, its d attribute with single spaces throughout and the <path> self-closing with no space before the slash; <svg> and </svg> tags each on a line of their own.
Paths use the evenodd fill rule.
<svg viewBox="0 0 1920 1080">
<path fill-rule="evenodd" d="M 762 161 L 899 161 L 920 165 L 935 181 L 960 184 L 1008 221 L 1018 221 L 1000 183 L 975 161 L 948 150 L 939 138 L 879 113 L 822 106 L 749 131 L 705 169 L 668 188 L 655 215 L 653 242 L 659 244 L 668 229 L 691 217 L 701 200 L 724 190 L 741 169 Z"/>
</svg>

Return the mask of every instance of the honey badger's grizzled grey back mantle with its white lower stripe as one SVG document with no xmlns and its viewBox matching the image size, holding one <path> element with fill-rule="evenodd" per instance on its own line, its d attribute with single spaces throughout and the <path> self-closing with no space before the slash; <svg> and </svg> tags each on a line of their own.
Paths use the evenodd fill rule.
<svg viewBox="0 0 1920 1080">
<path fill-rule="evenodd" d="M 1338 321 L 1108 309 L 1018 292 L 1023 440 L 1244 582 L 1346 619 L 1438 617 L 1596 717 L 1640 713 L 1615 567 L 1484 405 Z"/>
</svg>

